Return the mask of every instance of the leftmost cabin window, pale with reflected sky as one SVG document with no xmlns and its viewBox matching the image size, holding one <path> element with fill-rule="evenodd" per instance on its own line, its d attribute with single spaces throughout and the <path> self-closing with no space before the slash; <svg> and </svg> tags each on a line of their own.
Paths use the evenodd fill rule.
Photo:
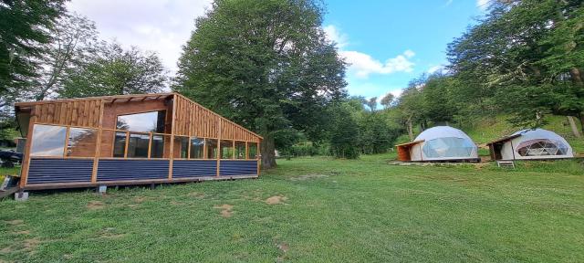
<svg viewBox="0 0 584 263">
<path fill-rule="evenodd" d="M 66 136 L 66 127 L 35 124 L 30 155 L 63 156 Z"/>
</svg>

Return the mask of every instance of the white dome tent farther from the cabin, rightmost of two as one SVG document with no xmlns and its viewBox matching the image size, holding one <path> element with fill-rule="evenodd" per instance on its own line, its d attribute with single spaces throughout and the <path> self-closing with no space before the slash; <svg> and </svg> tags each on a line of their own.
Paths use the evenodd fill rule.
<svg viewBox="0 0 584 263">
<path fill-rule="evenodd" d="M 522 130 L 508 136 L 494 147 L 497 160 L 536 160 L 572 158 L 566 139 L 544 129 Z M 498 151 L 498 152 L 497 152 Z"/>
</svg>

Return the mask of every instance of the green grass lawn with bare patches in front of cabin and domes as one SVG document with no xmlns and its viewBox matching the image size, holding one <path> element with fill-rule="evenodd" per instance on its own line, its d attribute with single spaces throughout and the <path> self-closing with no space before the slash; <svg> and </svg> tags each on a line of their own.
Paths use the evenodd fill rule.
<svg viewBox="0 0 584 263">
<path fill-rule="evenodd" d="M 584 163 L 278 161 L 257 180 L 0 202 L 0 261 L 584 261 Z M 268 204 L 270 203 L 270 204 Z"/>
</svg>

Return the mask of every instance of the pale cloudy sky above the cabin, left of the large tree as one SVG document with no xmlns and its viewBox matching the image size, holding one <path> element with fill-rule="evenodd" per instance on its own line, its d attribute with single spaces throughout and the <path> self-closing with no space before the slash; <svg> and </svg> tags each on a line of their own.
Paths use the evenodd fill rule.
<svg viewBox="0 0 584 263">
<path fill-rule="evenodd" d="M 96 22 L 100 37 L 115 38 L 124 47 L 136 46 L 159 54 L 175 71 L 182 46 L 191 36 L 194 19 L 203 16 L 211 0 L 73 0 L 69 11 Z"/>
</svg>

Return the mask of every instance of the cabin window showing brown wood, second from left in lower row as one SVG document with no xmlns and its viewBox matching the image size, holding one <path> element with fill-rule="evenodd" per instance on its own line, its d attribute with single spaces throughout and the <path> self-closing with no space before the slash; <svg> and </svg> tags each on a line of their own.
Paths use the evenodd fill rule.
<svg viewBox="0 0 584 263">
<path fill-rule="evenodd" d="M 67 143 L 67 156 L 93 157 L 98 132 L 86 128 L 70 128 Z"/>
</svg>

